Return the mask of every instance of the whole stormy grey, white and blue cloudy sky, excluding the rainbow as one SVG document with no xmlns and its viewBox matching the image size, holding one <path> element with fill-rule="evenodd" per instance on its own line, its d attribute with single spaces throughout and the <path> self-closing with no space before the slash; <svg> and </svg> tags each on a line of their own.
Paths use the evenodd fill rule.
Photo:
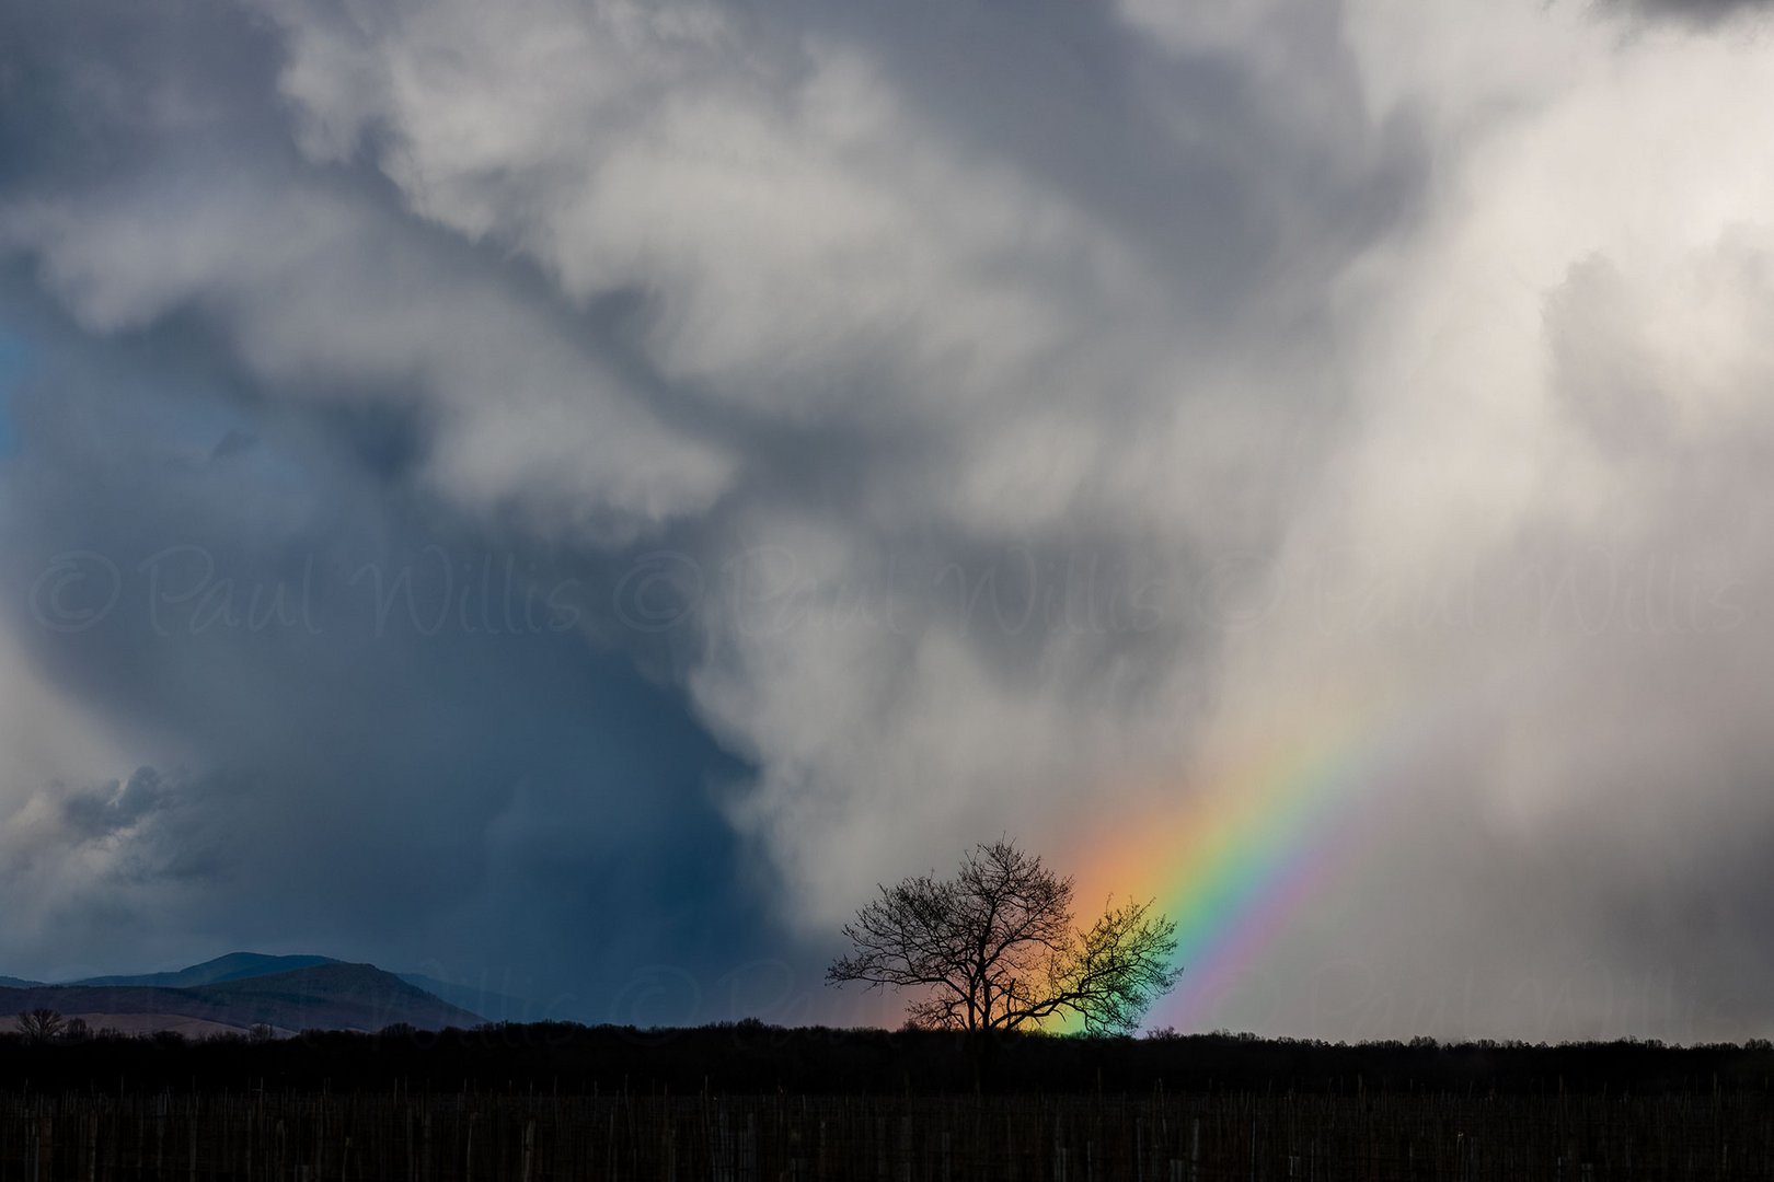
<svg viewBox="0 0 1774 1182">
<path fill-rule="evenodd" d="M 896 1024 L 878 881 L 1299 750 L 1189 1021 L 1765 1035 L 1769 21 L 5 4 L 0 973 Z"/>
</svg>

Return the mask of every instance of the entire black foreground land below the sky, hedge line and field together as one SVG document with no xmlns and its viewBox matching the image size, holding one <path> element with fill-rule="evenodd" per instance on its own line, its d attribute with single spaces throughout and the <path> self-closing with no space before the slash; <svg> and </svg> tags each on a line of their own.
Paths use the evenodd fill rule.
<svg viewBox="0 0 1774 1182">
<path fill-rule="evenodd" d="M 1769 1076 L 1765 1044 L 0 1038 L 0 1182 L 1774 1178 Z"/>
</svg>

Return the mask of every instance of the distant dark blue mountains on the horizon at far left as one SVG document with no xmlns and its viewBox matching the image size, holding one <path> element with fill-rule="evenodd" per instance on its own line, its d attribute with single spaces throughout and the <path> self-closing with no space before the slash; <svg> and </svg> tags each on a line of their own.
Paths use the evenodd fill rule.
<svg viewBox="0 0 1774 1182">
<path fill-rule="evenodd" d="M 239 953 L 252 957 L 254 953 Z M 263 957 L 275 960 L 279 957 Z M 309 964 L 280 973 L 232 976 L 213 984 L 170 987 L 138 984 L 78 984 L 0 987 L 0 1015 L 48 1007 L 66 1017 L 83 1017 L 94 1030 L 250 1030 L 257 1024 L 279 1031 L 381 1030 L 406 1023 L 420 1030 L 475 1026 L 479 1014 L 385 973 L 374 964 L 344 964 L 314 957 Z M 222 957 L 229 960 L 229 957 Z M 216 962 L 192 966 L 184 973 Z M 247 968 L 250 960 L 236 962 Z M 151 976 L 179 976 L 151 975 Z M 124 978 L 140 980 L 140 978 Z"/>
</svg>

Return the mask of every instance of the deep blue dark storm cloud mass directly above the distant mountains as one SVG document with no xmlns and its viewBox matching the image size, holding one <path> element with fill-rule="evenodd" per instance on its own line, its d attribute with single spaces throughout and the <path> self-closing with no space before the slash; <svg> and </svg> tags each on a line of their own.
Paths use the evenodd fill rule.
<svg viewBox="0 0 1774 1182">
<path fill-rule="evenodd" d="M 144 769 L 60 799 L 108 870 L 43 898 L 43 971 L 270 939 L 511 973 L 607 1017 L 635 964 L 713 980 L 768 950 L 710 797 L 734 771 L 578 640 L 591 571 L 428 530 L 378 502 L 355 436 L 255 420 L 200 360 L 144 365 L 156 347 L 46 347 L 7 601 L 39 675 L 200 760 L 206 787 Z M 35 895 L 12 893 L 25 948 Z"/>
</svg>

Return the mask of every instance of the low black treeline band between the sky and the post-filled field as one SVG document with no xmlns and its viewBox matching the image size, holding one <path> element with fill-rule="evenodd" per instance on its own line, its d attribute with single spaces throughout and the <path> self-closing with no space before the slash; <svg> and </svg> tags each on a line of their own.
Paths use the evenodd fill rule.
<svg viewBox="0 0 1774 1182">
<path fill-rule="evenodd" d="M 1754 1090 L 1774 1081 L 1774 1046 L 1659 1042 L 1332 1044 L 1254 1035 L 1087 1037 L 1011 1031 L 979 1074 L 963 1031 L 779 1028 L 757 1021 L 685 1030 L 488 1024 L 224 1035 L 0 1035 L 0 1090 L 238 1092 L 671 1092 L 671 1093 L 1144 1093 L 1476 1092 L 1538 1095 Z"/>
</svg>

